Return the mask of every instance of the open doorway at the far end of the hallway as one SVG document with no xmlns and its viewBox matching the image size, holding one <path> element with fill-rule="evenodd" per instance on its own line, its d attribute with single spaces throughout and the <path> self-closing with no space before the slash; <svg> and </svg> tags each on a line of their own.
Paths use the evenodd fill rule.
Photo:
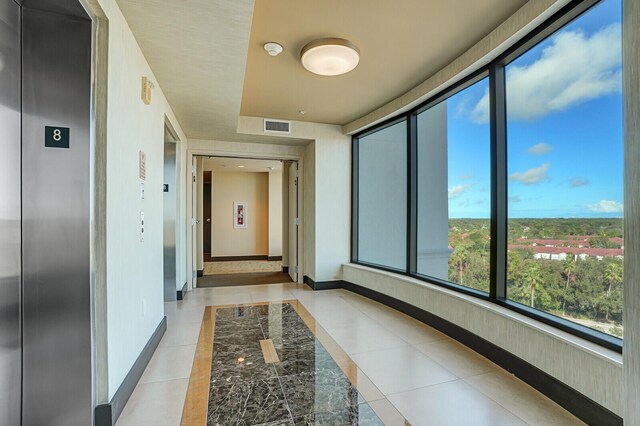
<svg viewBox="0 0 640 426">
<path fill-rule="evenodd" d="M 297 281 L 298 229 L 289 223 L 291 212 L 298 216 L 297 161 L 195 157 L 197 286 Z"/>
</svg>

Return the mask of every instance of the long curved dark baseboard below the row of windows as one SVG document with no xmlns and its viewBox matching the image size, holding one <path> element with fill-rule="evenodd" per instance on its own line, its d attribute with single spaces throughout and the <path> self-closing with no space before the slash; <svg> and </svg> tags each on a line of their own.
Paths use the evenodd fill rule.
<svg viewBox="0 0 640 426">
<path fill-rule="evenodd" d="M 307 277 L 305 277 L 305 283 Z M 316 283 L 317 285 L 317 283 Z M 313 285 L 309 284 L 311 288 Z M 482 337 L 402 300 L 342 281 L 342 288 L 358 293 L 407 314 L 478 352 L 514 374 L 589 425 L 622 425 L 622 418 L 550 374 Z M 314 288 L 315 290 L 315 288 Z"/>
</svg>

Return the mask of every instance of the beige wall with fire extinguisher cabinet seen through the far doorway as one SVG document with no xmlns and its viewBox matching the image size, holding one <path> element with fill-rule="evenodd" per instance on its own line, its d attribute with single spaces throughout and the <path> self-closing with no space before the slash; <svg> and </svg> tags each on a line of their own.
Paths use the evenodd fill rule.
<svg viewBox="0 0 640 426">
<path fill-rule="evenodd" d="M 269 174 L 213 172 L 211 256 L 269 254 Z M 247 202 L 247 228 L 233 227 L 233 203 Z"/>
</svg>

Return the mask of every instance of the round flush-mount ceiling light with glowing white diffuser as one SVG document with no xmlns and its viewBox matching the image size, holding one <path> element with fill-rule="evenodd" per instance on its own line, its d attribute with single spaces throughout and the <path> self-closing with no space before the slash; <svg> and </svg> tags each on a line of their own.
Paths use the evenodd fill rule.
<svg viewBox="0 0 640 426">
<path fill-rule="evenodd" d="M 358 66 L 360 52 L 349 40 L 321 38 L 302 48 L 302 66 L 318 75 L 346 74 Z"/>
</svg>

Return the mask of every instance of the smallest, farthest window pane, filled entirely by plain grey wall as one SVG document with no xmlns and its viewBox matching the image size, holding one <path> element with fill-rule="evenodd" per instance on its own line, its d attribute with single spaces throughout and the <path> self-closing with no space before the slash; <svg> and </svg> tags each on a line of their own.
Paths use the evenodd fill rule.
<svg viewBox="0 0 640 426">
<path fill-rule="evenodd" d="M 407 124 L 358 141 L 358 259 L 407 266 Z"/>
</svg>

